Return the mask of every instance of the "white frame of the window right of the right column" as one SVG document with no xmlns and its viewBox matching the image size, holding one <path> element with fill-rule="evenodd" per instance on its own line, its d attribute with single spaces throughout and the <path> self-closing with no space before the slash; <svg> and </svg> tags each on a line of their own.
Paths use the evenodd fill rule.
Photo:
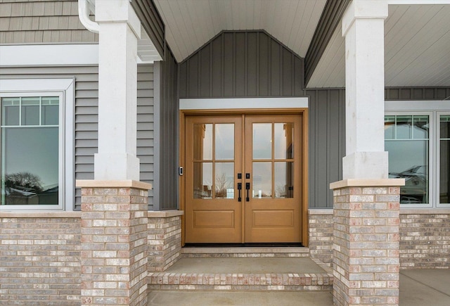
<svg viewBox="0 0 450 306">
<path fill-rule="evenodd" d="M 429 203 L 401 204 L 401 208 L 450 208 L 450 203 L 439 203 L 439 115 L 450 115 L 449 101 L 385 101 L 385 115 L 430 116 L 428 181 Z"/>
</svg>

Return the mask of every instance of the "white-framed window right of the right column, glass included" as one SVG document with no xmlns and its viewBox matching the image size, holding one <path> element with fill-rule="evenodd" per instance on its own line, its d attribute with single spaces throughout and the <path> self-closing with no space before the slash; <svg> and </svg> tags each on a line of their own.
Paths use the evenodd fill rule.
<svg viewBox="0 0 450 306">
<path fill-rule="evenodd" d="M 442 102 L 386 102 L 385 150 L 390 178 L 405 179 L 402 207 L 450 206 L 450 108 Z"/>
</svg>

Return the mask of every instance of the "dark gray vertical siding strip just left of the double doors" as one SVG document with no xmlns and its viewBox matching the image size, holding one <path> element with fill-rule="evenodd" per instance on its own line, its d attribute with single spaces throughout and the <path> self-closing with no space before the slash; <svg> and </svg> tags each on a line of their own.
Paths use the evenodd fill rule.
<svg viewBox="0 0 450 306">
<path fill-rule="evenodd" d="M 165 60 L 155 63 L 155 179 L 154 210 L 178 206 L 178 64 L 167 49 Z"/>
</svg>

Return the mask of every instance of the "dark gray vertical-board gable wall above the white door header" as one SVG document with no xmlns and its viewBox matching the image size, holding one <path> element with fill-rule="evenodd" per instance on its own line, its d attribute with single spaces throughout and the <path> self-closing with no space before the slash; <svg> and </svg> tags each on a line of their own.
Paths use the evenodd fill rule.
<svg viewBox="0 0 450 306">
<path fill-rule="evenodd" d="M 221 32 L 179 74 L 180 98 L 300 96 L 304 61 L 266 32 Z"/>
</svg>

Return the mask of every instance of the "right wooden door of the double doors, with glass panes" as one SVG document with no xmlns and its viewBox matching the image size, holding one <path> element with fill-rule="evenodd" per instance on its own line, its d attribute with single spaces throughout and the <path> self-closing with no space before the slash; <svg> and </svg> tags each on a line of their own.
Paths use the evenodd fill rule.
<svg viewBox="0 0 450 306">
<path fill-rule="evenodd" d="M 245 242 L 301 241 L 301 125 L 298 115 L 245 117 Z"/>
</svg>

